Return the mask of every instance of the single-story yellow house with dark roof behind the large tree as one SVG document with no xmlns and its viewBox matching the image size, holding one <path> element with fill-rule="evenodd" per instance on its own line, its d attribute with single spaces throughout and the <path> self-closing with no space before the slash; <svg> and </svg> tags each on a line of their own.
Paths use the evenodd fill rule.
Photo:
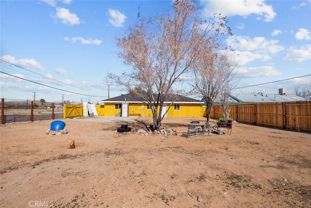
<svg viewBox="0 0 311 208">
<path fill-rule="evenodd" d="M 167 111 L 166 117 L 203 116 L 206 108 L 202 104 L 200 100 L 182 95 L 172 95 L 164 101 L 162 115 Z M 104 111 L 105 116 L 153 116 L 151 106 L 141 97 L 133 94 L 102 100 L 101 111 Z"/>
</svg>

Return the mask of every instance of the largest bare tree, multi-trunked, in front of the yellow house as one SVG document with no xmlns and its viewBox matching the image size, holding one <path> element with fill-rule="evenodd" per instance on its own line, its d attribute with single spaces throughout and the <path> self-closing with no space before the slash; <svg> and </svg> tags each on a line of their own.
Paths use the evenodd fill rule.
<svg viewBox="0 0 311 208">
<path fill-rule="evenodd" d="M 173 103 L 177 99 L 173 95 L 185 93 L 185 88 L 174 86 L 181 81 L 182 74 L 190 71 L 202 53 L 200 45 L 216 25 L 216 20 L 206 22 L 196 18 L 198 8 L 193 0 L 176 0 L 173 9 L 172 14 L 154 19 L 140 18 L 138 14 L 138 22 L 124 38 L 117 39 L 119 57 L 132 69 L 121 76 L 108 75 L 152 107 L 155 129 L 167 113 L 162 113 L 164 101 L 170 98 Z M 202 29 L 203 25 L 206 29 Z"/>
</svg>

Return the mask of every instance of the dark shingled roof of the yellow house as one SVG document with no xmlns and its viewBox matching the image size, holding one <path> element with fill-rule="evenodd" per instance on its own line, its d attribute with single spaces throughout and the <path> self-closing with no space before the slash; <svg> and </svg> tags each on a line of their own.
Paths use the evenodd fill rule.
<svg viewBox="0 0 311 208">
<path fill-rule="evenodd" d="M 157 95 L 155 95 L 157 96 Z M 147 100 L 147 99 L 146 99 Z M 164 103 L 202 103 L 200 100 L 196 100 L 190 97 L 186 97 L 183 95 L 171 95 L 168 96 L 165 100 Z M 141 97 L 137 97 L 134 94 L 125 94 L 125 95 L 120 95 L 117 97 L 112 97 L 109 99 L 102 100 L 101 103 L 115 103 L 115 102 L 146 102 L 144 99 Z"/>
</svg>

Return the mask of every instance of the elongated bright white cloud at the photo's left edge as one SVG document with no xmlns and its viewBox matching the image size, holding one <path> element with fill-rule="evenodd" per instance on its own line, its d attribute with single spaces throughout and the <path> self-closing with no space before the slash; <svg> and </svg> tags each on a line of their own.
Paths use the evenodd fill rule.
<svg viewBox="0 0 311 208">
<path fill-rule="evenodd" d="M 7 61 L 11 64 L 15 64 L 17 66 L 26 68 L 26 69 L 37 69 L 40 71 L 44 71 L 45 68 L 43 66 L 41 66 L 41 64 L 39 62 L 37 62 L 34 58 L 32 59 L 19 59 L 16 60 L 15 57 L 12 57 L 11 55 L 4 55 L 2 57 L 0 57 L 2 60 Z"/>
</svg>

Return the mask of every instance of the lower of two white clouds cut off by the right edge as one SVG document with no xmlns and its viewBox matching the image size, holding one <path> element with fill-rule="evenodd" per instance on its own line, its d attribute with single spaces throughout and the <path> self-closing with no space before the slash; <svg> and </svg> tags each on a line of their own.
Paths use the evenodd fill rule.
<svg viewBox="0 0 311 208">
<path fill-rule="evenodd" d="M 311 60 L 311 45 L 305 45 L 299 49 L 291 48 L 291 53 L 287 54 L 283 61 L 297 61 L 302 62 Z"/>
</svg>

